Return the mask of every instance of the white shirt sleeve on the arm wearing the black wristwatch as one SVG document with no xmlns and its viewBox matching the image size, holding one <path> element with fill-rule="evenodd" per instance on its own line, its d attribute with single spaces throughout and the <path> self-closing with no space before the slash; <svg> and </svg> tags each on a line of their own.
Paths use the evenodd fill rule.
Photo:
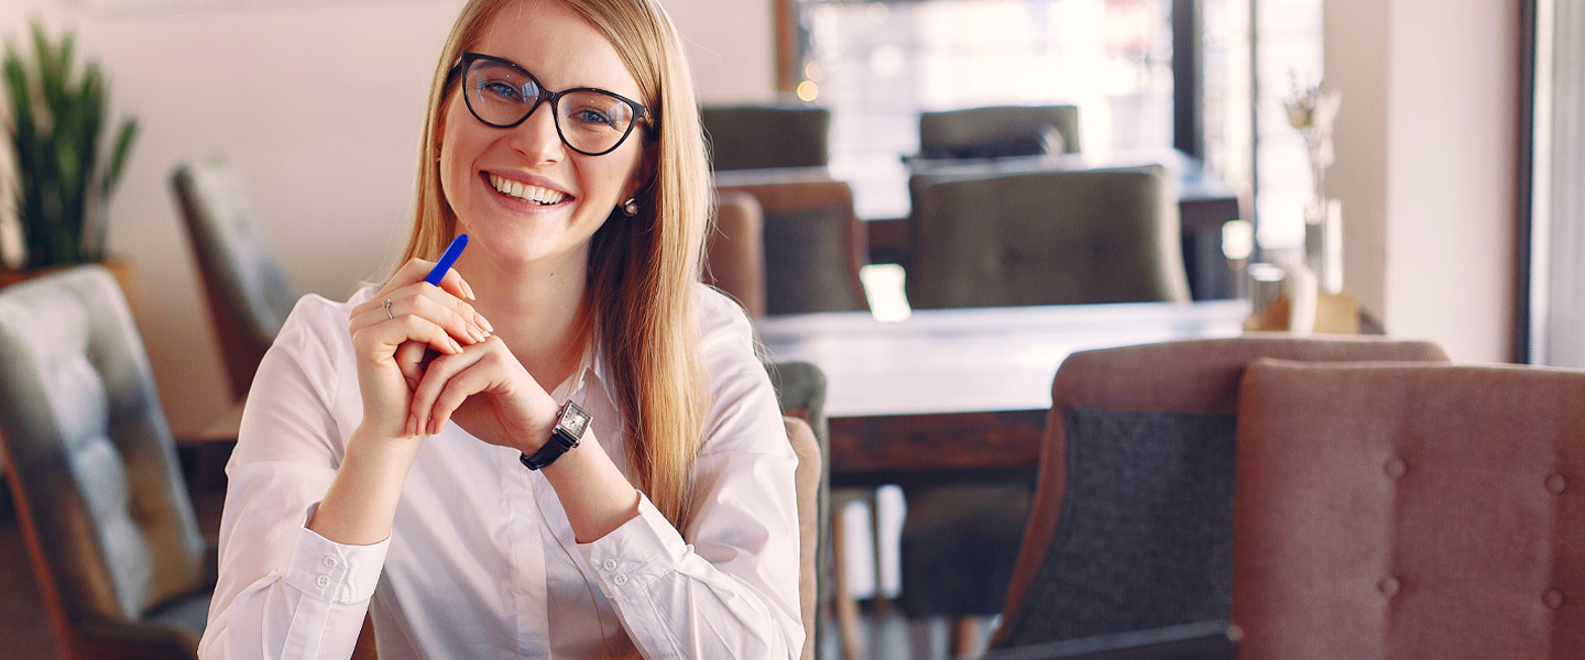
<svg viewBox="0 0 1585 660">
<path fill-rule="evenodd" d="M 640 497 L 637 518 L 579 549 L 645 657 L 797 658 L 797 457 L 748 320 L 713 296 L 701 305 L 713 402 L 686 533 Z"/>
</svg>

